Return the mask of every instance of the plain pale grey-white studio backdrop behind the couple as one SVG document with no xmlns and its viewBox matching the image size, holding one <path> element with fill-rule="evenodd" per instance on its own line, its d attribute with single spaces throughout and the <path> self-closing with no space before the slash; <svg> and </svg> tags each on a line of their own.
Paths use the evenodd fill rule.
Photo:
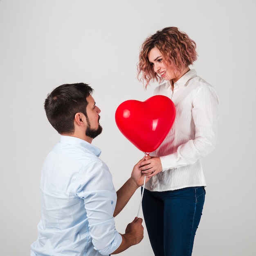
<svg viewBox="0 0 256 256">
<path fill-rule="evenodd" d="M 39 180 L 58 142 L 43 103 L 63 83 L 90 83 L 101 108 L 102 149 L 116 189 L 143 157 L 115 124 L 128 99 L 144 101 L 139 48 L 158 29 L 179 27 L 195 42 L 198 75 L 216 88 L 220 119 L 207 157 L 207 195 L 194 256 L 254 256 L 255 6 L 252 0 L 0 0 L 0 255 L 28 256 L 40 220 Z M 124 233 L 137 215 L 136 191 L 116 218 Z M 123 256 L 153 256 L 144 240 Z"/>
</svg>

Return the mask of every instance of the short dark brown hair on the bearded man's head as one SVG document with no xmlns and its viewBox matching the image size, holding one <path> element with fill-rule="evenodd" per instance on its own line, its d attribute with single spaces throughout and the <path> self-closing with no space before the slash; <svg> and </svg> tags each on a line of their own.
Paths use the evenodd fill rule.
<svg viewBox="0 0 256 256">
<path fill-rule="evenodd" d="M 50 124 L 60 134 L 74 132 L 74 117 L 81 112 L 87 118 L 86 98 L 93 89 L 85 83 L 63 84 L 55 88 L 45 99 L 45 112 Z"/>
</svg>

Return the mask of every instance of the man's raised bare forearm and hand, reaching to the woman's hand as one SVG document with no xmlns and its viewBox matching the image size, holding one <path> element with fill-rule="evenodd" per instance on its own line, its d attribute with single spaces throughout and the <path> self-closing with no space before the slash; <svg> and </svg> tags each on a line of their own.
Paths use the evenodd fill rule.
<svg viewBox="0 0 256 256">
<path fill-rule="evenodd" d="M 149 159 L 150 156 L 144 156 L 135 166 L 133 167 L 131 177 L 126 181 L 126 183 L 121 186 L 117 191 L 117 204 L 114 211 L 114 217 L 120 213 L 122 209 L 126 206 L 127 202 L 130 200 L 134 192 L 143 185 L 144 183 L 144 174 L 139 170 L 139 164 L 146 159 Z M 148 182 L 150 178 L 146 178 Z"/>
</svg>

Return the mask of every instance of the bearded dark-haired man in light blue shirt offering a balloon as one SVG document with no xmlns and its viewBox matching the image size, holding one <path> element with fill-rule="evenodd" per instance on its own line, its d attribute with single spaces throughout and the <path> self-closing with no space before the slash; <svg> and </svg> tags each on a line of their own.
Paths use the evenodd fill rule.
<svg viewBox="0 0 256 256">
<path fill-rule="evenodd" d="M 125 234 L 117 232 L 114 220 L 143 184 L 143 159 L 116 192 L 100 149 L 91 144 L 102 131 L 92 92 L 84 83 L 64 84 L 45 99 L 47 119 L 61 139 L 43 164 L 41 220 L 31 256 L 118 254 L 143 238 L 141 218 L 128 224 Z"/>
</svg>

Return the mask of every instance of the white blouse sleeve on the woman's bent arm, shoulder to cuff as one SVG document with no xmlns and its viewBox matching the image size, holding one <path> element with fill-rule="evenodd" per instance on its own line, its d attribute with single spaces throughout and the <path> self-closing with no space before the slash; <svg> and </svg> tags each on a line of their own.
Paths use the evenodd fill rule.
<svg viewBox="0 0 256 256">
<path fill-rule="evenodd" d="M 218 123 L 218 95 L 211 86 L 202 86 L 192 102 L 195 139 L 177 147 L 173 154 L 161 156 L 163 171 L 194 164 L 209 154 L 216 145 Z"/>
</svg>

